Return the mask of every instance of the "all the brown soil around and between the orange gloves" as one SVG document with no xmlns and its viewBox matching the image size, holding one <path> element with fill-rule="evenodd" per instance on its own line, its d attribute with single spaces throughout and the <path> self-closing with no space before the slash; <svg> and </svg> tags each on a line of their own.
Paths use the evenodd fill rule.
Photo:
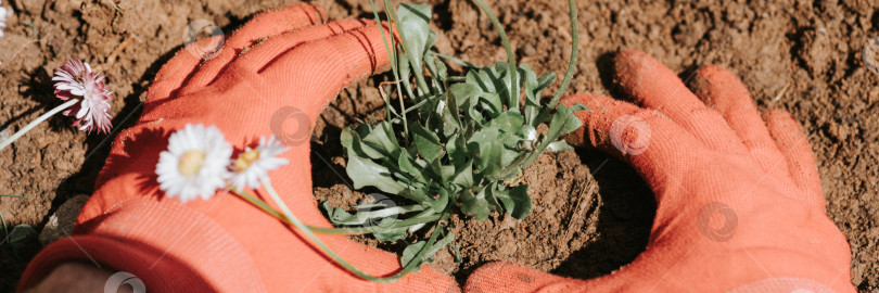
<svg viewBox="0 0 879 293">
<path fill-rule="evenodd" d="M 150 80 L 180 48 L 187 23 L 204 18 L 227 34 L 254 13 L 289 1 L 10 0 L 9 28 L 0 38 L 0 130 L 17 130 L 48 109 L 50 77 L 64 58 L 102 67 L 117 100 L 114 125 L 140 113 Z M 315 1 L 331 17 L 371 15 L 368 1 Z M 466 0 L 434 0 L 441 51 L 477 64 L 502 60 L 497 34 Z M 570 48 L 563 1 L 488 1 L 499 15 L 520 62 L 539 74 L 562 74 Z M 578 71 L 570 92 L 613 94 L 610 58 L 621 48 L 653 54 L 686 78 L 714 63 L 739 74 L 757 104 L 790 111 L 808 132 L 827 196 L 828 216 L 852 247 L 852 282 L 879 290 L 879 76 L 862 61 L 862 48 L 879 37 L 875 1 L 579 1 Z M 749 3 L 750 2 L 750 3 Z M 876 62 L 876 61 L 870 61 Z M 344 175 L 341 126 L 381 106 L 375 77 L 351 87 L 327 111 L 313 146 Z M 56 117 L 0 152 L 0 212 L 10 225 L 41 228 L 65 200 L 89 194 L 109 148 L 105 136 L 87 136 Z M 320 146 L 320 148 L 317 148 Z M 317 198 L 352 204 L 328 165 L 314 156 Z M 591 175 L 590 175 L 591 174 Z M 455 219 L 463 263 L 448 252 L 437 264 L 463 280 L 473 268 L 506 259 L 555 273 L 589 278 L 608 273 L 644 250 L 654 203 L 625 164 L 577 150 L 542 156 L 526 171 L 534 212 L 520 224 L 504 216 L 484 222 Z M 336 194 L 345 195 L 340 200 Z M 353 195 L 348 195 L 353 194 Z M 331 196 L 332 195 L 332 196 Z M 361 240 L 369 242 L 369 240 Z M 14 288 L 36 238 L 21 259 L 0 247 L 0 290 Z"/>
</svg>

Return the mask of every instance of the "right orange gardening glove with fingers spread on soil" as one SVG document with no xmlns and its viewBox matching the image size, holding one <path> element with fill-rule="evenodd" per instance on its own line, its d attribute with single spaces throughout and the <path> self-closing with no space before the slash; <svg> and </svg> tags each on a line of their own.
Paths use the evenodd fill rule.
<svg viewBox="0 0 879 293">
<path fill-rule="evenodd" d="M 790 114 L 761 118 L 744 85 L 717 66 L 700 68 L 690 91 L 642 52 L 614 62 L 637 105 L 568 97 L 594 110 L 576 113 L 584 127 L 568 140 L 621 157 L 653 190 L 646 251 L 590 280 L 494 263 L 464 291 L 854 292 L 849 244 L 825 215 L 812 150 Z"/>
</svg>

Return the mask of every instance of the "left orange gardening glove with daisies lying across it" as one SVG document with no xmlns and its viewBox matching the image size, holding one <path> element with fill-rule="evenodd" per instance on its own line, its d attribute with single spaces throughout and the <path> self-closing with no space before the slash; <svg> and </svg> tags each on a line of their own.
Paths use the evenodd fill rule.
<svg viewBox="0 0 879 293">
<path fill-rule="evenodd" d="M 187 124 L 214 125 L 237 149 L 276 133 L 290 148 L 281 155 L 290 164 L 269 173 L 275 189 L 303 221 L 332 227 L 311 196 L 308 133 L 342 88 L 387 67 L 382 29 L 392 36 L 373 21 L 322 24 L 326 15 L 296 4 L 254 17 L 204 62 L 190 52 L 198 50 L 180 50 L 156 75 L 138 123 L 113 143 L 74 235 L 40 252 L 18 288 L 80 260 L 132 273 L 150 292 L 460 291 L 430 266 L 395 283 L 365 281 L 238 196 L 220 191 L 182 203 L 158 190 L 158 154 Z M 278 133 L 284 122 L 288 130 Z M 400 268 L 392 253 L 318 237 L 373 276 Z"/>
</svg>

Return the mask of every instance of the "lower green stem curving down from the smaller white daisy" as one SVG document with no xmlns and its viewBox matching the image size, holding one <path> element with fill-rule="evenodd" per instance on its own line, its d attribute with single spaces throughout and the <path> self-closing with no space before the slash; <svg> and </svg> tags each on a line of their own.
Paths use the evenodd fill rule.
<svg viewBox="0 0 879 293">
<path fill-rule="evenodd" d="M 341 265 L 343 268 L 348 270 L 351 273 L 354 273 L 357 277 L 360 277 L 360 278 L 362 278 L 365 280 L 379 282 L 379 283 L 390 283 L 390 282 L 395 282 L 399 278 L 403 278 L 403 276 L 405 276 L 406 273 L 409 273 L 409 271 L 411 271 L 415 268 L 416 265 L 420 265 L 420 262 L 411 262 L 411 263 L 407 264 L 406 266 L 404 266 L 403 269 L 399 270 L 399 272 L 395 273 L 394 276 L 387 277 L 387 278 L 374 277 L 374 276 L 371 276 L 369 273 L 366 273 L 366 272 L 361 271 L 360 269 L 356 268 L 354 265 L 352 265 L 351 263 L 348 263 L 347 260 L 342 258 L 339 254 L 336 254 L 329 246 L 327 246 L 327 244 L 324 244 L 323 241 L 320 241 L 320 239 L 318 239 L 311 232 L 311 229 L 308 229 L 308 227 L 306 227 L 305 224 L 303 224 L 302 221 L 298 220 L 298 218 L 293 216 L 293 213 L 290 212 L 290 208 L 281 200 L 281 196 L 278 196 L 278 193 L 275 192 L 275 189 L 271 187 L 271 182 L 269 182 L 269 180 L 259 179 L 259 181 L 260 181 L 260 183 L 263 183 L 263 187 L 266 188 L 266 191 L 269 193 L 271 199 L 278 204 L 278 206 L 281 207 L 281 211 L 284 212 L 284 215 L 290 219 L 290 221 L 293 222 L 293 226 L 295 226 L 296 228 L 302 230 L 303 233 L 305 233 L 309 239 L 311 239 L 311 241 L 315 244 L 317 244 L 318 247 L 320 247 L 320 250 L 324 254 L 327 254 L 327 256 L 332 258 L 336 264 Z M 431 239 L 429 240 L 428 245 L 425 246 L 425 249 L 421 250 L 418 253 L 418 255 L 416 256 L 417 258 L 413 258 L 413 259 L 423 258 L 424 254 L 426 254 L 428 251 L 430 250 L 430 247 L 436 242 L 436 237 L 437 237 L 437 233 L 436 233 L 436 231 L 434 231 L 434 234 L 431 235 Z"/>
</svg>

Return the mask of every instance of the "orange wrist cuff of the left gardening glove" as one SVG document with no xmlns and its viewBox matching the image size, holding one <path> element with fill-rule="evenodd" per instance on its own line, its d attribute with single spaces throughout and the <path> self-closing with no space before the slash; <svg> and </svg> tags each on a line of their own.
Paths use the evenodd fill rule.
<svg viewBox="0 0 879 293">
<path fill-rule="evenodd" d="M 181 204 L 135 199 L 75 229 L 28 264 L 18 291 L 65 262 L 98 263 L 149 291 L 266 292 L 255 262 L 221 226 Z"/>
</svg>

